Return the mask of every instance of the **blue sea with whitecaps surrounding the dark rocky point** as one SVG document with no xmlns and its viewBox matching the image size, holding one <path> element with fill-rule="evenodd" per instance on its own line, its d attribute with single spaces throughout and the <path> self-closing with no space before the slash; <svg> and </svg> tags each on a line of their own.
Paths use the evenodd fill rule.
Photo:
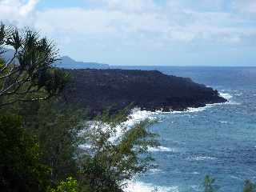
<svg viewBox="0 0 256 192">
<path fill-rule="evenodd" d="M 118 67 L 115 67 L 118 68 Z M 202 191 L 204 177 L 221 192 L 242 191 L 256 181 L 256 67 L 126 66 L 189 77 L 217 89 L 229 102 L 183 113 L 154 114 L 161 147 L 152 150 L 158 169 L 138 176 L 130 190 Z M 136 184 L 137 183 L 137 184 Z M 127 189 L 129 191 L 129 189 Z"/>
</svg>

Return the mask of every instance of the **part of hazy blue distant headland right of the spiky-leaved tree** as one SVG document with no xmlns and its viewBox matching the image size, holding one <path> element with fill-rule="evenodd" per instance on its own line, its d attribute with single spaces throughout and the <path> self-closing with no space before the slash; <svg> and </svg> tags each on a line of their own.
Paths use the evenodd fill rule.
<svg viewBox="0 0 256 192">
<path fill-rule="evenodd" d="M 98 62 L 77 62 L 74 59 L 63 56 L 60 61 L 55 63 L 56 66 L 65 69 L 109 69 L 110 66 Z"/>
</svg>

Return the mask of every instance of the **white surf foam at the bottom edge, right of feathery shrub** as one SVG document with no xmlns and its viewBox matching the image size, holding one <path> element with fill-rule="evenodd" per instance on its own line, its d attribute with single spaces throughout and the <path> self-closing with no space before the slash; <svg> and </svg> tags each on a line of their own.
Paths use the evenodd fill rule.
<svg viewBox="0 0 256 192">
<path fill-rule="evenodd" d="M 178 192 L 178 186 L 154 186 L 151 183 L 130 181 L 123 190 L 125 192 Z"/>
</svg>

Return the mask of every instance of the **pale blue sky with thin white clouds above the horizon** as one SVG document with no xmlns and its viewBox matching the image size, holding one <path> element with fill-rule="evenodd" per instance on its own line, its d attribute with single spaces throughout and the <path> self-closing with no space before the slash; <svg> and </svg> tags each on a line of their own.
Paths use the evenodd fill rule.
<svg viewBox="0 0 256 192">
<path fill-rule="evenodd" d="M 0 0 L 0 13 L 78 61 L 256 66 L 256 0 Z"/>
</svg>

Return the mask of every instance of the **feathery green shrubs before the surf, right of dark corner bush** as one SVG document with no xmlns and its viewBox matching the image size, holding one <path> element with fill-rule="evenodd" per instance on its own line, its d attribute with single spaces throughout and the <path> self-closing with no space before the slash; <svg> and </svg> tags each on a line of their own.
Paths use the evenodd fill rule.
<svg viewBox="0 0 256 192">
<path fill-rule="evenodd" d="M 16 105 L 10 113 L 14 110 L 24 117 L 26 131 L 38 138 L 40 162 L 50 167 L 49 181 L 54 186 L 72 176 L 78 178 L 81 191 L 121 191 L 126 179 L 151 167 L 147 148 L 158 144 L 148 130 L 152 122 L 128 129 L 122 125 L 127 109 L 112 116 L 103 113 L 91 126 L 84 110 L 62 105 L 56 98 Z M 122 137 L 110 142 L 117 127 Z M 80 149 L 82 143 L 90 143 L 91 148 Z"/>
</svg>

